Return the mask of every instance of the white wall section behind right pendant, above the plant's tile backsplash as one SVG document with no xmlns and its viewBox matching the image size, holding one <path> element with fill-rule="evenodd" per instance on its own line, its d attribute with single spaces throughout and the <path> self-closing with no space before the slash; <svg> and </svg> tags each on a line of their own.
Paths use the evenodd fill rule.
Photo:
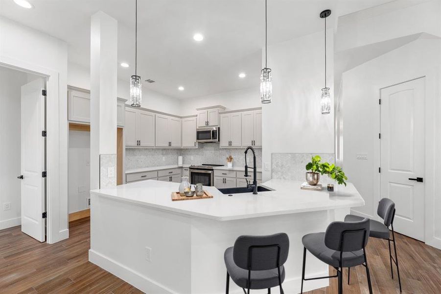
<svg viewBox="0 0 441 294">
<path fill-rule="evenodd" d="M 263 179 L 271 178 L 272 153 L 334 153 L 334 111 L 322 115 L 324 32 L 268 47 L 273 100 L 262 105 Z M 333 103 L 333 30 L 327 31 L 327 86 Z M 264 54 L 263 54 L 264 56 Z"/>
</svg>

